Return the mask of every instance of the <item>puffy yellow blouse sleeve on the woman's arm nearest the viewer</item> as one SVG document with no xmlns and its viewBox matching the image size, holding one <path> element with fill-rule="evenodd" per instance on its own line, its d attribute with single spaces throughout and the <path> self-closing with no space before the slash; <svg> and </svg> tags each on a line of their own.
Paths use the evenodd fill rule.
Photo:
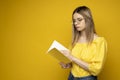
<svg viewBox="0 0 120 80">
<path fill-rule="evenodd" d="M 92 75 L 98 75 L 102 69 L 107 52 L 107 42 L 102 39 L 96 43 L 95 56 L 93 60 L 88 64 L 88 69 Z"/>
</svg>

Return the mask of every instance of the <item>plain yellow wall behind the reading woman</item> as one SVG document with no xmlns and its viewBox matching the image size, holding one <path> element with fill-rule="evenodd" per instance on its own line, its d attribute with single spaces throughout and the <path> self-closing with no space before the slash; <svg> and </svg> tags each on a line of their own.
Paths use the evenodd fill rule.
<svg viewBox="0 0 120 80">
<path fill-rule="evenodd" d="M 46 51 L 56 39 L 71 42 L 71 15 L 80 5 L 92 10 L 97 33 L 108 41 L 100 80 L 120 80 L 120 0 L 1 0 L 0 80 L 67 80 Z"/>
</svg>

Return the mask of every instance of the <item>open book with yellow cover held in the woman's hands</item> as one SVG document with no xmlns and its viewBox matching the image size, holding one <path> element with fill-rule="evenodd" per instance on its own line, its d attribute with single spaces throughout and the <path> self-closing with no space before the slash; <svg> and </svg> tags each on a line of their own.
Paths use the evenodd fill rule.
<svg viewBox="0 0 120 80">
<path fill-rule="evenodd" d="M 61 54 L 61 50 L 69 51 L 62 44 L 60 44 L 59 42 L 54 40 L 53 43 L 51 44 L 50 48 L 48 49 L 47 53 L 50 54 L 51 56 L 55 57 L 60 62 L 64 62 L 64 63 L 71 62 L 67 57 L 65 57 L 63 54 Z"/>
</svg>

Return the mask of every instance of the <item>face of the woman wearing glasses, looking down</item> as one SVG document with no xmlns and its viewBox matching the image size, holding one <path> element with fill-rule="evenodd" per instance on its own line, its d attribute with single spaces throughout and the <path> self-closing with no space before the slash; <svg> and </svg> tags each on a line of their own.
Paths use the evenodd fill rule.
<svg viewBox="0 0 120 80">
<path fill-rule="evenodd" d="M 73 14 L 73 24 L 74 24 L 77 31 L 84 31 L 85 28 L 86 28 L 85 19 L 79 13 L 74 13 Z"/>
</svg>

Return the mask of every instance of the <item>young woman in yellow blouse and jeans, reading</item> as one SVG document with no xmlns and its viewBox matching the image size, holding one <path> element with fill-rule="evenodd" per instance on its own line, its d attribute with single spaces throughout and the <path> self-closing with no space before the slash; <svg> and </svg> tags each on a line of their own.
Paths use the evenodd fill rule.
<svg viewBox="0 0 120 80">
<path fill-rule="evenodd" d="M 61 51 L 71 63 L 60 62 L 60 65 L 62 68 L 71 68 L 68 80 L 97 80 L 104 63 L 107 42 L 104 37 L 97 35 L 88 7 L 77 7 L 72 20 L 72 50 Z"/>
</svg>

